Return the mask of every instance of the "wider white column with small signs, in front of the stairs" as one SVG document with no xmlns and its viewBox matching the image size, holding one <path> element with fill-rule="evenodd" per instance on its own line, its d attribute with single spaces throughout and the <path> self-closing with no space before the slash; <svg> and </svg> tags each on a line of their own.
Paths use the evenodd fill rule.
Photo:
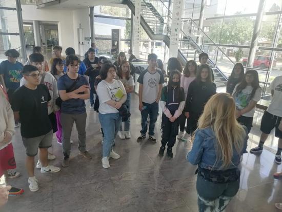
<svg viewBox="0 0 282 212">
<path fill-rule="evenodd" d="M 179 32 L 181 29 L 181 18 L 183 14 L 184 0 L 174 1 L 172 10 L 172 23 L 169 43 L 169 57 L 177 57 Z"/>
</svg>

